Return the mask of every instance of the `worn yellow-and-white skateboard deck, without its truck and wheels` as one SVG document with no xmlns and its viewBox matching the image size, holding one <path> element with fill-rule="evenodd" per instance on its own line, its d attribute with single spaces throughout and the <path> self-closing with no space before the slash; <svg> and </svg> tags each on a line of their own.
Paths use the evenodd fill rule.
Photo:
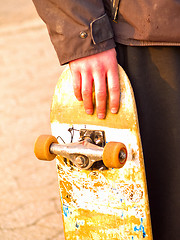
<svg viewBox="0 0 180 240">
<path fill-rule="evenodd" d="M 77 142 L 80 129 L 104 130 L 106 142 L 126 145 L 128 159 L 120 169 L 82 170 L 57 156 L 60 201 L 66 240 L 152 239 L 148 193 L 138 118 L 130 82 L 119 67 L 118 114 L 107 106 L 104 120 L 87 115 L 76 100 L 69 68 L 62 73 L 51 107 L 52 134 L 59 143 Z"/>
</svg>

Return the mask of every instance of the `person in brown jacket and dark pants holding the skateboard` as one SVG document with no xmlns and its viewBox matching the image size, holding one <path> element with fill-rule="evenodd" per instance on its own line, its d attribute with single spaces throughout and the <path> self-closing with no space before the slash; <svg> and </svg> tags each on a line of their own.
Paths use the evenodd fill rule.
<svg viewBox="0 0 180 240">
<path fill-rule="evenodd" d="M 74 93 L 105 118 L 119 109 L 118 63 L 131 81 L 145 158 L 153 236 L 178 240 L 180 159 L 180 1 L 33 0 Z"/>
</svg>

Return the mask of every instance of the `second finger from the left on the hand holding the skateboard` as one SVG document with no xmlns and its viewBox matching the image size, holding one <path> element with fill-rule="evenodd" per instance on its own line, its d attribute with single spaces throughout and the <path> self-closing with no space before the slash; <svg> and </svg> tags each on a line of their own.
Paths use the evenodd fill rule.
<svg viewBox="0 0 180 240">
<path fill-rule="evenodd" d="M 93 114 L 92 75 L 88 72 L 82 72 L 81 77 L 82 77 L 82 98 L 84 108 L 87 114 Z"/>
</svg>

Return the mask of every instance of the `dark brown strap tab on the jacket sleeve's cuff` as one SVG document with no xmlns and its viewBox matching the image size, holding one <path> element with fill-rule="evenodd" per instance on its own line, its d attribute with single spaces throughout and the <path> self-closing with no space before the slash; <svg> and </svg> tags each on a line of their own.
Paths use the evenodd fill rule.
<svg viewBox="0 0 180 240">
<path fill-rule="evenodd" d="M 113 38 L 113 31 L 106 14 L 90 23 L 93 44 L 98 44 Z"/>
</svg>

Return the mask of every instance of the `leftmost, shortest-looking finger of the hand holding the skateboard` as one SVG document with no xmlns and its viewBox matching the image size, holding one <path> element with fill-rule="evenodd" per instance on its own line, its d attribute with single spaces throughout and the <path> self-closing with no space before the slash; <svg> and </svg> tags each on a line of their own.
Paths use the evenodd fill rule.
<svg viewBox="0 0 180 240">
<path fill-rule="evenodd" d="M 76 98 L 79 101 L 82 101 L 82 94 L 81 94 L 81 74 L 78 71 L 71 71 L 72 80 L 73 80 L 73 89 Z"/>
</svg>

